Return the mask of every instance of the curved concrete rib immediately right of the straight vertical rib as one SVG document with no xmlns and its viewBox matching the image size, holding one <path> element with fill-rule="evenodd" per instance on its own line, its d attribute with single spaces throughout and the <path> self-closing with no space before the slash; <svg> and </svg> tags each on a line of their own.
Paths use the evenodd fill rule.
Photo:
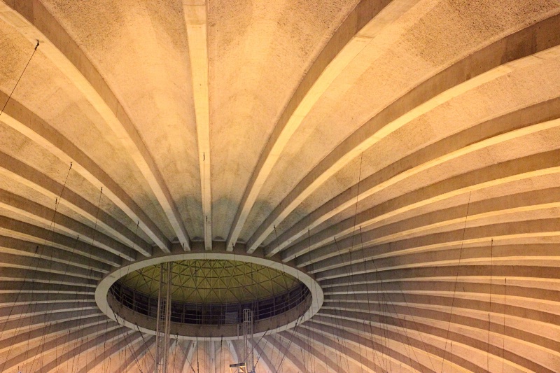
<svg viewBox="0 0 560 373">
<path fill-rule="evenodd" d="M 398 19 L 418 0 L 363 0 L 346 17 L 298 85 L 276 122 L 259 157 L 228 234 L 226 248 L 232 251 L 262 185 L 279 159 L 283 148 L 302 124 L 311 108 L 330 84 L 381 29 Z M 253 252 L 254 249 L 251 251 Z"/>
</svg>

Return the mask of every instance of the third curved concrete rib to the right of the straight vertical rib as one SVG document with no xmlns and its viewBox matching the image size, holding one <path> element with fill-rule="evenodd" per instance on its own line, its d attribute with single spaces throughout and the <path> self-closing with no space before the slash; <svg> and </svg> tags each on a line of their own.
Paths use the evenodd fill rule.
<svg viewBox="0 0 560 373">
<path fill-rule="evenodd" d="M 557 115 L 560 116 L 560 99 L 554 99 L 552 101 L 559 104 L 559 112 L 557 113 Z M 546 104 L 552 104 L 552 102 L 546 101 Z M 530 108 L 528 112 L 532 113 L 539 108 L 542 109 L 542 105 L 535 105 L 533 106 L 533 108 Z M 519 112 L 520 111 L 516 111 L 515 113 L 520 114 Z M 521 113 L 524 113 L 524 111 Z M 502 122 L 502 118 L 505 120 L 506 118 L 510 118 L 510 116 L 511 115 L 505 115 L 505 117 L 500 117 L 498 118 L 498 120 Z M 521 118 L 524 118 L 524 116 L 525 115 L 523 115 Z M 547 119 L 549 118 L 549 116 L 550 114 L 546 113 L 544 118 Z M 395 162 L 394 164 L 391 164 L 388 167 L 381 169 L 379 172 L 376 172 L 375 174 L 372 174 L 371 176 L 365 178 L 365 180 L 360 182 L 360 194 L 358 195 L 358 199 L 356 199 L 358 190 L 358 185 L 356 184 L 348 190 L 342 192 L 337 197 L 331 199 L 326 204 L 323 204 L 321 207 L 316 209 L 316 211 L 310 214 L 312 218 L 301 220 L 300 223 L 296 224 L 297 227 L 294 226 L 296 229 L 290 228 L 288 232 L 285 232 L 285 234 L 281 234 L 278 241 L 273 241 L 271 244 L 269 244 L 269 246 L 267 246 L 266 248 L 266 252 L 269 253 L 269 255 L 274 255 L 274 253 L 282 250 L 286 246 L 289 246 L 289 244 L 295 239 L 302 237 L 302 235 L 306 232 L 304 231 L 304 229 L 313 228 L 321 223 L 324 223 L 329 218 L 332 218 L 332 216 L 335 216 L 337 213 L 340 213 L 349 208 L 352 204 L 356 204 L 356 200 L 358 200 L 359 202 L 362 199 L 374 195 L 374 193 L 376 192 L 384 190 L 384 188 L 388 188 L 391 185 L 395 185 L 395 183 L 405 180 L 405 178 L 413 177 L 414 175 L 419 174 L 422 171 L 437 167 L 444 164 L 445 162 L 455 160 L 458 157 L 463 157 L 470 153 L 488 148 L 489 146 L 496 146 L 500 143 L 505 143 L 506 141 L 510 141 L 512 139 L 518 139 L 522 136 L 536 134 L 540 131 L 546 131 L 547 129 L 554 129 L 558 126 L 560 126 L 560 119 L 541 122 L 535 125 L 530 125 L 530 123 L 527 123 L 526 127 L 525 123 L 521 123 L 521 126 L 519 126 L 519 124 L 513 122 L 512 120 L 505 126 L 501 125 L 501 123 L 496 123 L 494 120 L 490 120 L 489 122 L 481 123 L 481 125 L 472 128 L 472 130 L 468 129 L 467 131 L 460 132 L 459 134 L 456 134 L 454 136 L 449 136 L 448 138 L 443 139 L 442 141 L 439 141 L 432 146 L 423 148 L 419 152 L 413 153 L 409 157 L 406 157 L 404 159 L 405 162 L 403 162 L 403 160 L 401 159 L 398 162 Z M 484 129 L 484 127 L 486 127 L 486 129 Z M 509 129 L 512 130 L 509 131 Z M 495 136 L 487 137 L 488 133 L 494 134 Z M 473 143 L 473 136 L 476 136 L 475 139 L 479 141 Z M 456 144 L 456 147 L 451 148 L 454 150 L 448 151 L 447 149 L 449 149 L 449 144 L 452 143 Z M 461 147 L 461 145 L 463 144 L 465 146 Z M 426 155 L 428 153 L 434 154 L 435 157 L 428 156 L 428 160 L 426 160 Z M 406 162 L 407 159 L 411 162 Z M 426 160 L 426 162 L 422 162 L 423 160 Z M 412 166 L 411 163 L 414 164 L 414 166 Z M 400 171 L 401 169 L 402 171 Z M 309 220 L 311 224 L 308 225 L 307 220 Z M 353 225 L 353 220 L 344 220 L 344 223 L 341 222 L 337 225 L 346 225 L 347 229 L 342 230 L 337 229 L 336 227 L 332 227 L 332 231 L 335 234 L 330 235 L 329 233 L 329 239 L 335 235 L 339 236 L 340 234 L 346 234 L 357 229 L 357 227 Z M 349 225 L 351 225 L 351 227 Z M 364 225 L 362 224 L 360 226 L 363 227 Z M 326 241 L 324 241 L 324 239 L 322 241 L 319 241 L 316 239 L 316 237 L 311 237 L 309 242 L 306 240 L 304 244 L 298 243 L 287 248 L 283 253 L 283 260 L 292 260 L 296 255 L 300 255 L 306 249 L 313 249 L 325 243 Z"/>
</svg>

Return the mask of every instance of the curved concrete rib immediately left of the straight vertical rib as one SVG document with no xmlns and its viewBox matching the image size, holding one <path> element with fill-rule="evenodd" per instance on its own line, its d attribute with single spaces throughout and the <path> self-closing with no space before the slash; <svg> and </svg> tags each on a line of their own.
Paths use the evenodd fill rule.
<svg viewBox="0 0 560 373">
<path fill-rule="evenodd" d="M 3 19 L 33 44 L 37 40 L 43 41 L 41 53 L 48 57 L 64 76 L 74 83 L 87 101 L 102 115 L 102 118 L 113 129 L 118 139 L 123 142 L 132 160 L 148 181 L 163 211 L 165 211 L 165 215 L 180 243 L 186 248 L 190 248 L 190 239 L 181 215 L 148 148 L 146 148 L 144 141 L 134 127 L 134 123 L 127 115 L 125 108 L 119 103 L 102 75 L 87 59 L 76 42 L 38 1 L 33 1 L 30 4 L 19 3 L 18 1 L 10 4 L 1 2 L 0 15 L 1 13 L 10 13 L 10 17 L 3 17 Z M 160 248 L 163 251 L 169 252 L 169 248 L 163 245 L 164 243 L 160 239 L 156 242 L 161 244 Z"/>
</svg>

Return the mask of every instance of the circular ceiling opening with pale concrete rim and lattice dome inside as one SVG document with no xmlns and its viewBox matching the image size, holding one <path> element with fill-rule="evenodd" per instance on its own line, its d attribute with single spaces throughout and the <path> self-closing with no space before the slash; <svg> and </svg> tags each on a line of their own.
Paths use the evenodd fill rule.
<svg viewBox="0 0 560 373">
<path fill-rule="evenodd" d="M 96 291 L 113 320 L 155 334 L 161 263 L 169 262 L 172 335 L 228 339 L 239 335 L 243 310 L 253 311 L 254 335 L 293 328 L 318 311 L 323 292 L 310 276 L 281 262 L 225 253 L 148 258 L 117 269 Z"/>
</svg>

